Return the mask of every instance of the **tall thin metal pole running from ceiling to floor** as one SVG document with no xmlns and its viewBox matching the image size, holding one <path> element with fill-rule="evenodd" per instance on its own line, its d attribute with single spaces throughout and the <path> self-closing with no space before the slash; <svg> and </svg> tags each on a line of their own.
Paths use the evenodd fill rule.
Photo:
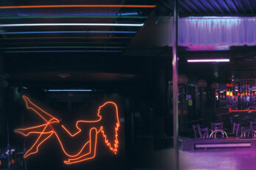
<svg viewBox="0 0 256 170">
<path fill-rule="evenodd" d="M 174 0 L 173 46 L 172 46 L 172 82 L 173 82 L 173 117 L 174 117 L 174 170 L 179 169 L 179 114 L 178 114 L 178 57 L 177 57 L 177 28 L 178 0 Z"/>
</svg>

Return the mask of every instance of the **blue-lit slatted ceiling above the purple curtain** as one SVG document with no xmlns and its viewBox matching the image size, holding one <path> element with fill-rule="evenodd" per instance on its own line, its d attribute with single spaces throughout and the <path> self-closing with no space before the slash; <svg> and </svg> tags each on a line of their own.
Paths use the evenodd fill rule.
<svg viewBox="0 0 256 170">
<path fill-rule="evenodd" d="M 158 12 L 170 15 L 174 1 L 160 0 Z M 255 0 L 179 0 L 179 16 L 256 15 Z"/>
</svg>

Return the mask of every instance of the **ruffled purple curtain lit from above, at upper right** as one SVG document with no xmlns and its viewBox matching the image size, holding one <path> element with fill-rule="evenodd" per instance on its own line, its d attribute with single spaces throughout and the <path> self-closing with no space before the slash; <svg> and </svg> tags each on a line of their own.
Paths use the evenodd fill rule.
<svg viewBox="0 0 256 170">
<path fill-rule="evenodd" d="M 179 18 L 179 45 L 256 45 L 256 18 Z"/>
</svg>

